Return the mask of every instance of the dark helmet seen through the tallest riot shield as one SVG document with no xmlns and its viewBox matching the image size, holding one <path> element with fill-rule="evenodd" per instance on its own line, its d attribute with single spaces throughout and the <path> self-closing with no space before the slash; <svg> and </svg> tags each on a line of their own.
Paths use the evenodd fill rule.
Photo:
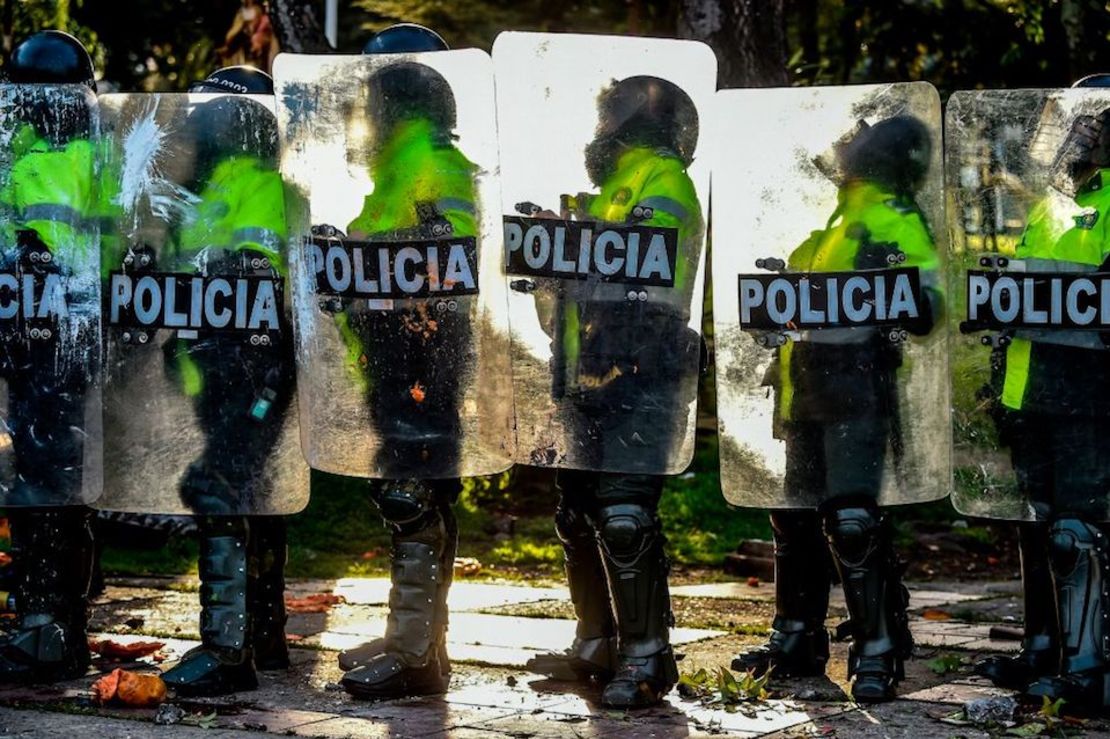
<svg viewBox="0 0 1110 739">
<path fill-rule="evenodd" d="M 586 170 L 601 186 L 622 151 L 633 146 L 665 149 L 689 166 L 697 136 L 697 109 L 685 90 L 657 77 L 629 77 L 597 98 L 597 131 L 586 146 Z"/>
</svg>

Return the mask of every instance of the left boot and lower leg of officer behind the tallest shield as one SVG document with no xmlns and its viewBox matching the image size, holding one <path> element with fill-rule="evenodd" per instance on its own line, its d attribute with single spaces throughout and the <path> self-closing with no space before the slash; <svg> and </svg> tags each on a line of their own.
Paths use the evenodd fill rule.
<svg viewBox="0 0 1110 739">
<path fill-rule="evenodd" d="M 608 682 L 616 669 L 616 626 L 597 536 L 581 510 L 559 502 L 555 532 L 563 541 L 566 581 L 577 618 L 574 641 L 562 652 L 537 655 L 525 667 L 556 680 Z"/>
</svg>

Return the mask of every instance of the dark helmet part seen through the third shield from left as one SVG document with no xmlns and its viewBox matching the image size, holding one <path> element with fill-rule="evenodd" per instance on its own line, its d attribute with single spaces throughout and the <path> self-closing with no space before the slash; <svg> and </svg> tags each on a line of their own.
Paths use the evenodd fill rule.
<svg viewBox="0 0 1110 739">
<path fill-rule="evenodd" d="M 455 94 L 447 80 L 426 64 L 390 64 L 374 72 L 367 87 L 383 132 L 401 121 L 416 119 L 430 121 L 445 135 L 455 128 Z"/>
</svg>

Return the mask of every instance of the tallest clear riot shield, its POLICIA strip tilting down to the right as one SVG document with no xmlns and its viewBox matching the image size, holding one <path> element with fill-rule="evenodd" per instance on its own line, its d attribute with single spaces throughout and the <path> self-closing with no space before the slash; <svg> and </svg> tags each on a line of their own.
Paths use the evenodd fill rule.
<svg viewBox="0 0 1110 739">
<path fill-rule="evenodd" d="M 694 41 L 494 43 L 517 457 L 689 464 L 716 59 Z"/>
</svg>

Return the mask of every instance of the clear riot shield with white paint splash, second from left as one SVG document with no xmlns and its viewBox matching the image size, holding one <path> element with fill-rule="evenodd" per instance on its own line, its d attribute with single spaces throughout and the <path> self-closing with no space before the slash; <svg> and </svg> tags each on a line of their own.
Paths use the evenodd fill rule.
<svg viewBox="0 0 1110 739">
<path fill-rule="evenodd" d="M 102 243 L 110 510 L 292 514 L 297 443 L 273 100 L 109 94 Z"/>
</svg>

